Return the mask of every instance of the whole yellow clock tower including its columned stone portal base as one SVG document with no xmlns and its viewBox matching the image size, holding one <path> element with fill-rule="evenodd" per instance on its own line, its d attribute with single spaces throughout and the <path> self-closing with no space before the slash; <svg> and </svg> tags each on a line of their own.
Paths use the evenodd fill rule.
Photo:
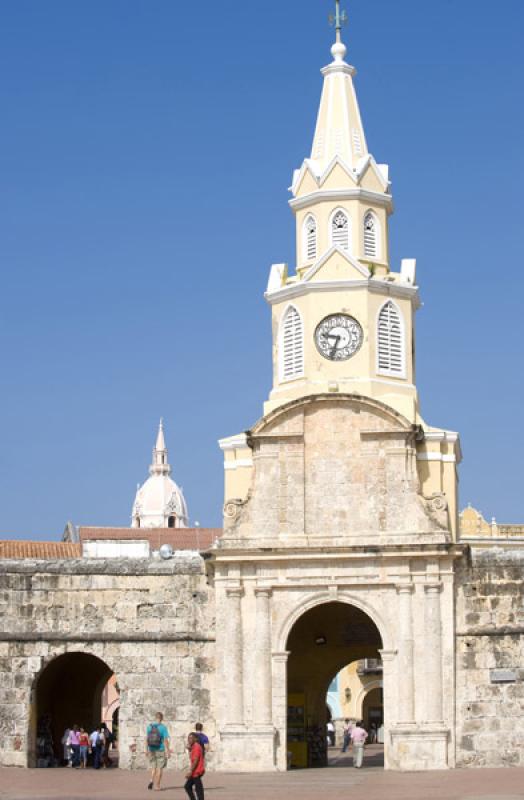
<svg viewBox="0 0 524 800">
<path fill-rule="evenodd" d="M 273 264 L 265 294 L 273 386 L 263 417 L 220 441 L 209 569 L 224 769 L 317 763 L 327 687 L 362 658 L 380 661 L 385 766 L 454 764 L 460 443 L 419 413 L 415 261 L 390 263 L 388 168 L 368 150 L 338 0 L 335 21 L 291 185 L 296 265 Z"/>
</svg>

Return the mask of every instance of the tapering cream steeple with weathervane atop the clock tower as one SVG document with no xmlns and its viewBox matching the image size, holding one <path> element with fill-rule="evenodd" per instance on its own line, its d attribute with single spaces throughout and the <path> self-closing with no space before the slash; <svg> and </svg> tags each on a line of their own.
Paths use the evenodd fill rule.
<svg viewBox="0 0 524 800">
<path fill-rule="evenodd" d="M 341 25 L 346 21 L 336 0 L 336 41 L 331 48 L 333 61 L 321 70 L 324 87 L 318 110 L 317 125 L 311 150 L 316 172 L 321 174 L 338 156 L 355 169 L 367 154 L 366 137 L 360 117 L 353 75 L 354 67 L 344 61 L 346 46 L 341 40 Z"/>
</svg>

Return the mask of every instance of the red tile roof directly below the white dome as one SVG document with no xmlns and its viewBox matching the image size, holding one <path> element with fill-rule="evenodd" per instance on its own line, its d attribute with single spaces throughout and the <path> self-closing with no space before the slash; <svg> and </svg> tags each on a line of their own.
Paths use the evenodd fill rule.
<svg viewBox="0 0 524 800">
<path fill-rule="evenodd" d="M 170 544 L 175 550 L 207 550 L 222 528 L 79 528 L 80 541 L 148 541 L 151 550 Z"/>
</svg>

